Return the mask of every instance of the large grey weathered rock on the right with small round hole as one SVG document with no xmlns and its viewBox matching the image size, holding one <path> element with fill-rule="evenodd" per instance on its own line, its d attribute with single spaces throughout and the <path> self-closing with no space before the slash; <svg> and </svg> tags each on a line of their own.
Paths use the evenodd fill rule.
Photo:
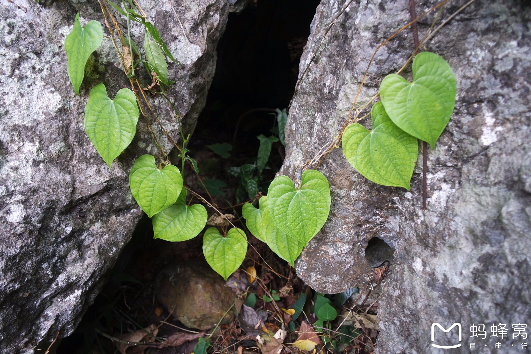
<svg viewBox="0 0 531 354">
<path fill-rule="evenodd" d="M 281 172 L 292 178 L 300 179 L 306 161 L 338 135 L 376 47 L 409 22 L 408 1 L 354 1 L 321 42 L 346 3 L 322 1 L 312 23 L 300 73 L 319 52 L 286 127 Z M 416 3 L 421 14 L 438 1 Z M 451 0 L 438 24 L 464 3 Z M 420 21 L 421 39 L 435 14 Z M 470 351 L 473 323 L 484 323 L 489 335 L 493 323 L 508 324 L 503 352 L 522 350 L 521 338 L 512 341 L 511 324 L 531 325 L 530 20 L 526 2 L 477 1 L 423 48 L 447 59 L 458 88 L 452 119 L 429 152 L 426 211 L 419 168 L 408 192 L 369 182 L 341 149 L 319 167 L 331 186 L 330 217 L 296 262 L 297 274 L 328 293 L 363 287 L 371 271 L 367 242 L 379 237 L 395 248 L 379 301 L 378 353 L 444 352 L 431 347 L 433 322 L 463 326 L 464 344 L 452 352 Z M 399 70 L 413 46 L 408 29 L 380 49 L 358 107 L 378 92 L 385 75 Z M 370 127 L 370 119 L 363 124 Z M 439 331 L 436 344 L 455 344 L 454 332 L 447 338 Z M 475 342 L 474 352 L 497 352 L 495 339 Z"/>
</svg>

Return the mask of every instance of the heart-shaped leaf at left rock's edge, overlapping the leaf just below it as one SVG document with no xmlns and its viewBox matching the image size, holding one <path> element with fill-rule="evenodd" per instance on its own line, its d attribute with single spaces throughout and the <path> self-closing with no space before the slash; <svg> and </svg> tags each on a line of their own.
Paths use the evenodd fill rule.
<svg viewBox="0 0 531 354">
<path fill-rule="evenodd" d="M 177 167 L 167 165 L 159 170 L 155 157 L 142 155 L 131 169 L 129 186 L 136 203 L 151 218 L 177 201 L 183 177 Z"/>
</svg>

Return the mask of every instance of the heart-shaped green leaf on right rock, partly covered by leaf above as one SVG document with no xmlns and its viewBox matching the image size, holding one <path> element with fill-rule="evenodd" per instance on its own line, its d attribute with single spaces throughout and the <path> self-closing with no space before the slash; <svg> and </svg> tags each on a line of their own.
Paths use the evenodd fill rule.
<svg viewBox="0 0 531 354">
<path fill-rule="evenodd" d="M 397 127 L 382 102 L 372 107 L 372 132 L 361 124 L 350 124 L 343 133 L 343 153 L 360 174 L 384 186 L 404 187 L 417 161 L 417 139 Z"/>
</svg>

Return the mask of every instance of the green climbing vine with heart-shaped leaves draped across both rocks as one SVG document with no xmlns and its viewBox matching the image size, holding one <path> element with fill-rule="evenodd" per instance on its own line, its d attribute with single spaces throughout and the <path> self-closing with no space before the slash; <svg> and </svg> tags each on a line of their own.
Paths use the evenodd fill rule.
<svg viewBox="0 0 531 354">
<path fill-rule="evenodd" d="M 143 10 L 136 2 L 122 0 L 121 6 L 118 6 L 107 0 L 107 3 L 127 20 L 127 33 L 123 36 L 107 3 L 102 1 L 104 0 L 100 0 L 100 6 L 110 33 L 108 38 L 113 41 L 121 57 L 131 89 L 123 88 L 116 93 L 114 99 L 110 99 L 104 84 L 93 87 L 85 106 L 85 131 L 97 152 L 111 168 L 113 161 L 131 144 L 139 115 L 142 113 L 159 149 L 160 162 L 156 163 L 155 156 L 149 154 L 140 156 L 134 162 L 129 176 L 132 195 L 140 208 L 152 218 L 155 238 L 167 241 L 189 240 L 204 229 L 208 214 L 203 205 L 186 203 L 189 188 L 183 186 L 182 173 L 185 162 L 190 163 L 196 174 L 199 169 L 195 160 L 190 157 L 190 151 L 186 149 L 190 135 L 184 136 L 181 117 L 165 95 L 165 90 L 175 83 L 168 77 L 166 58 L 177 62 L 155 26 L 145 20 Z M 140 47 L 132 41 L 131 21 L 143 25 L 144 55 Z M 76 15 L 73 30 L 65 39 L 68 77 L 76 94 L 79 94 L 83 81 L 85 64 L 101 44 L 103 37 L 99 22 L 92 20 L 83 28 L 79 14 Z M 118 42 L 121 43 L 122 50 L 119 50 Z M 140 64 L 149 74 L 152 84 L 143 82 L 139 75 Z M 175 110 L 182 145 L 177 145 L 162 127 L 144 91 L 164 97 Z M 357 116 L 353 124 L 348 124 L 349 116 L 347 124 L 333 143 L 333 148 L 336 148 L 337 142 L 342 139 L 345 157 L 361 175 L 377 184 L 409 190 L 417 160 L 417 139 L 430 143 L 434 148 L 452 115 L 456 92 L 456 79 L 450 65 L 434 53 L 419 53 L 413 61 L 413 82 L 398 74 L 387 75 L 380 85 L 379 94 L 364 106 L 369 106 L 373 100 L 380 97 L 380 101 L 374 103 L 371 109 L 372 130 L 359 124 L 358 121 L 362 118 Z M 181 170 L 170 164 L 166 150 L 156 140 L 143 106 L 149 108 L 168 140 L 179 150 Z M 246 227 L 279 257 L 294 266 L 303 248 L 327 221 L 331 205 L 330 186 L 321 172 L 306 169 L 307 165 L 311 165 L 309 162 L 303 168 L 300 182 L 294 182 L 287 176 L 279 176 L 270 183 L 267 196 L 257 196 L 259 185 L 267 182 L 262 178 L 262 171 L 267 168 L 272 143 L 280 140 L 285 145 L 286 109 L 277 109 L 277 120 L 278 126 L 274 127 L 275 131 L 272 130 L 272 136 L 257 137 L 260 140 L 260 148 L 256 165 L 232 167 L 228 171 L 241 179 L 238 190 L 248 194 L 253 200 L 242 207 Z M 228 157 L 232 145 L 213 144 L 209 145 L 209 148 L 221 157 Z M 323 159 L 328 152 L 323 154 Z M 203 183 L 200 178 L 199 180 L 204 191 L 210 196 L 207 185 L 211 185 L 213 180 L 210 184 Z M 215 205 L 198 193 L 191 193 L 226 219 Z M 238 193 L 239 199 L 242 193 Z M 244 197 L 245 195 L 242 198 Z M 226 221 L 232 228 L 224 230 L 224 235 L 220 234 L 217 228 L 211 227 L 203 236 L 205 259 L 225 280 L 242 264 L 248 243 L 245 231 L 237 228 L 230 220 Z M 318 316 L 320 319 L 322 317 L 330 320 L 334 314 L 329 312 L 329 308 L 323 306 Z"/>
</svg>

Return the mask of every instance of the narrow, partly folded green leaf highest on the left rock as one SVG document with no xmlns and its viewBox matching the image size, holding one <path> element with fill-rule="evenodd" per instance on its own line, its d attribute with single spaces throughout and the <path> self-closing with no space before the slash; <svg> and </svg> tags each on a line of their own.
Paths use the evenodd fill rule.
<svg viewBox="0 0 531 354">
<path fill-rule="evenodd" d="M 79 94 L 79 87 L 85 76 L 85 64 L 93 51 L 96 50 L 103 40 L 101 24 L 92 20 L 85 27 L 79 23 L 79 12 L 75 15 L 74 28 L 65 38 L 65 50 L 67 57 L 66 71 L 75 93 Z"/>
</svg>

